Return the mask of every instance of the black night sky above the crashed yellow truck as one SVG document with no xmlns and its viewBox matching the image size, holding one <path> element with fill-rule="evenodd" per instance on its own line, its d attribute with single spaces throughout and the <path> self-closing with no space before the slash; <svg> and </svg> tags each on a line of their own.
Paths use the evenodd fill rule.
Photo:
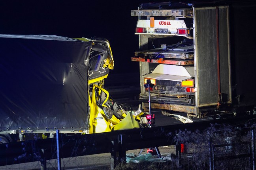
<svg viewBox="0 0 256 170">
<path fill-rule="evenodd" d="M 110 74 L 139 72 L 130 61 L 138 50 L 137 17 L 130 11 L 148 1 L 1 0 L 0 34 L 104 37 L 115 60 Z"/>
</svg>

